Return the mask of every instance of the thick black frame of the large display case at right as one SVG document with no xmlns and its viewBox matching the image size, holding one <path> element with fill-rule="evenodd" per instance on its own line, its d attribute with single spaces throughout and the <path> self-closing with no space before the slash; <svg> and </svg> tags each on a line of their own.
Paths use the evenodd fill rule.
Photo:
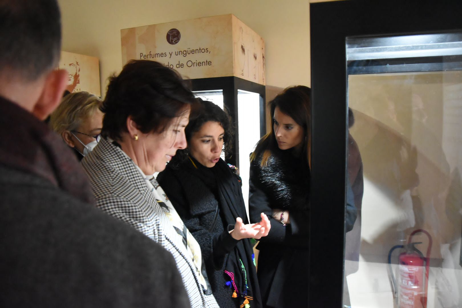
<svg viewBox="0 0 462 308">
<path fill-rule="evenodd" d="M 310 4 L 312 154 L 310 307 L 342 307 L 347 139 L 346 37 L 462 29 L 460 1 Z"/>
</svg>

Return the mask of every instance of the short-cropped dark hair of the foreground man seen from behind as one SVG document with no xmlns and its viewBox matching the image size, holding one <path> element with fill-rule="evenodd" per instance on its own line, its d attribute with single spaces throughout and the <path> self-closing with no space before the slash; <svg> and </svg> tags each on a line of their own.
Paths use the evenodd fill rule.
<svg viewBox="0 0 462 308">
<path fill-rule="evenodd" d="M 58 66 L 61 14 L 56 0 L 0 1 L 0 73 L 36 80 Z"/>
</svg>

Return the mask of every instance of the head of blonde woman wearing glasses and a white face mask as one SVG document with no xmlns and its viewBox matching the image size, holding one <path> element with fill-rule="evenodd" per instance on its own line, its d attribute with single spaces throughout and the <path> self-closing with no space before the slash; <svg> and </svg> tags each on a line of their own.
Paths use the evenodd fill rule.
<svg viewBox="0 0 462 308">
<path fill-rule="evenodd" d="M 81 91 L 67 94 L 50 116 L 49 125 L 82 159 L 97 145 L 103 126 L 101 99 Z"/>
</svg>

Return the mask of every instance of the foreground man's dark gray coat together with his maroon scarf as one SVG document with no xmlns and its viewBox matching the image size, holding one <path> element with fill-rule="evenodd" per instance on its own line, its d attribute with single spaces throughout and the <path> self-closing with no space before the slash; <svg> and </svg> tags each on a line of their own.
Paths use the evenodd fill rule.
<svg viewBox="0 0 462 308">
<path fill-rule="evenodd" d="M 172 255 L 85 202 L 61 138 L 1 97 L 0 117 L 0 307 L 190 307 Z"/>
</svg>

